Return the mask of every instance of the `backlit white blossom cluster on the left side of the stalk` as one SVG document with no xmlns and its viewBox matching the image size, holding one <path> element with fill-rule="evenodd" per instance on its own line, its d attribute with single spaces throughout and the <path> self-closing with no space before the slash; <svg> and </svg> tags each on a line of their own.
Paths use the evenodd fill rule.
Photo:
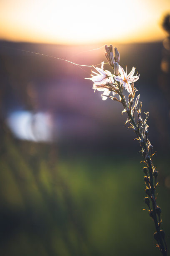
<svg viewBox="0 0 170 256">
<path fill-rule="evenodd" d="M 107 85 L 108 82 L 114 83 L 113 75 L 108 70 L 103 70 L 104 61 L 101 64 L 101 69 L 98 67 L 94 67 L 99 74 L 92 71 L 92 77 L 86 78 L 92 80 L 94 82 L 93 89 L 97 91 L 103 91 L 102 100 L 106 100 L 107 96 L 110 94 L 109 86 Z M 95 74 L 95 75 L 94 75 Z M 112 92 L 113 95 L 115 95 L 115 92 Z"/>
</svg>

